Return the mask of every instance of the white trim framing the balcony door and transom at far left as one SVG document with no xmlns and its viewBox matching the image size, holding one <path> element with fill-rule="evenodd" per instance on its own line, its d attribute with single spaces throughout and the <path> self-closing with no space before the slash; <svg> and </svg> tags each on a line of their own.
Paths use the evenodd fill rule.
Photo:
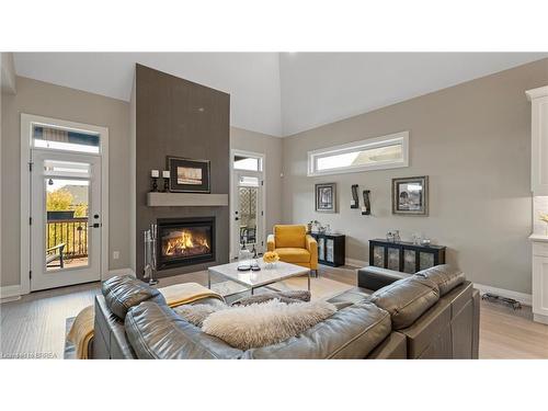
<svg viewBox="0 0 548 411">
<path fill-rule="evenodd" d="M 31 125 L 53 125 L 71 130 L 94 132 L 100 137 L 101 157 L 101 277 L 109 273 L 109 128 L 59 118 L 21 113 L 21 294 L 31 293 Z M 44 149 L 41 149 L 44 150 Z M 60 151 L 60 150 L 55 150 Z M 72 152 L 72 151 L 70 151 Z"/>
</svg>

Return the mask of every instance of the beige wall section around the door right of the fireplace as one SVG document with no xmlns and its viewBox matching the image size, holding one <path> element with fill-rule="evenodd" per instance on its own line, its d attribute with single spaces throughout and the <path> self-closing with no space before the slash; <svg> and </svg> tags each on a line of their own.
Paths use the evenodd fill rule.
<svg viewBox="0 0 548 411">
<path fill-rule="evenodd" d="M 265 232 L 282 221 L 282 144 L 283 139 L 266 134 L 249 132 L 242 128 L 230 128 L 230 148 L 265 155 Z"/>
</svg>

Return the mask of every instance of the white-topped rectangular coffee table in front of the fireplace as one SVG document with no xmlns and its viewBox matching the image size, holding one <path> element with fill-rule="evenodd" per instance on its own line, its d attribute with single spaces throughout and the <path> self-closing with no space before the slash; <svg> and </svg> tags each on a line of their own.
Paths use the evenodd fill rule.
<svg viewBox="0 0 548 411">
<path fill-rule="evenodd" d="M 207 286 L 212 288 L 212 274 L 220 275 L 229 281 L 241 284 L 251 290 L 253 295 L 255 288 L 264 287 L 290 277 L 301 275 L 308 276 L 308 290 L 310 290 L 310 270 L 300 265 L 278 261 L 272 269 L 266 267 L 262 260 L 258 260 L 261 271 L 238 271 L 238 262 L 215 265 L 207 269 Z"/>
</svg>

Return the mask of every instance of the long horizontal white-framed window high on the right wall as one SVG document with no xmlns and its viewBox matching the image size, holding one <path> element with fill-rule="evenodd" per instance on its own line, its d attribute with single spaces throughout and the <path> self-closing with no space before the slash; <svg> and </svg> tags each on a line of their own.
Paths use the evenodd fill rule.
<svg viewBox="0 0 548 411">
<path fill-rule="evenodd" d="M 308 152 L 308 175 L 395 169 L 409 164 L 409 132 Z"/>
</svg>

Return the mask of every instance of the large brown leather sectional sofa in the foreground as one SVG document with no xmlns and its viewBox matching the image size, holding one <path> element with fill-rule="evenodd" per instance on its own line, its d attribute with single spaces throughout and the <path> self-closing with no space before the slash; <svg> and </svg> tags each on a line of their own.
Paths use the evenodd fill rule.
<svg viewBox="0 0 548 411">
<path fill-rule="evenodd" d="M 379 289 L 363 287 L 370 285 L 365 279 L 358 275 L 358 287 L 330 300 L 338 312 L 304 333 L 240 351 L 178 316 L 158 290 L 117 277 L 105 282 L 95 298 L 92 357 L 478 357 L 479 293 L 463 273 L 441 265 Z M 222 302 L 206 298 L 194 304 Z"/>
</svg>

